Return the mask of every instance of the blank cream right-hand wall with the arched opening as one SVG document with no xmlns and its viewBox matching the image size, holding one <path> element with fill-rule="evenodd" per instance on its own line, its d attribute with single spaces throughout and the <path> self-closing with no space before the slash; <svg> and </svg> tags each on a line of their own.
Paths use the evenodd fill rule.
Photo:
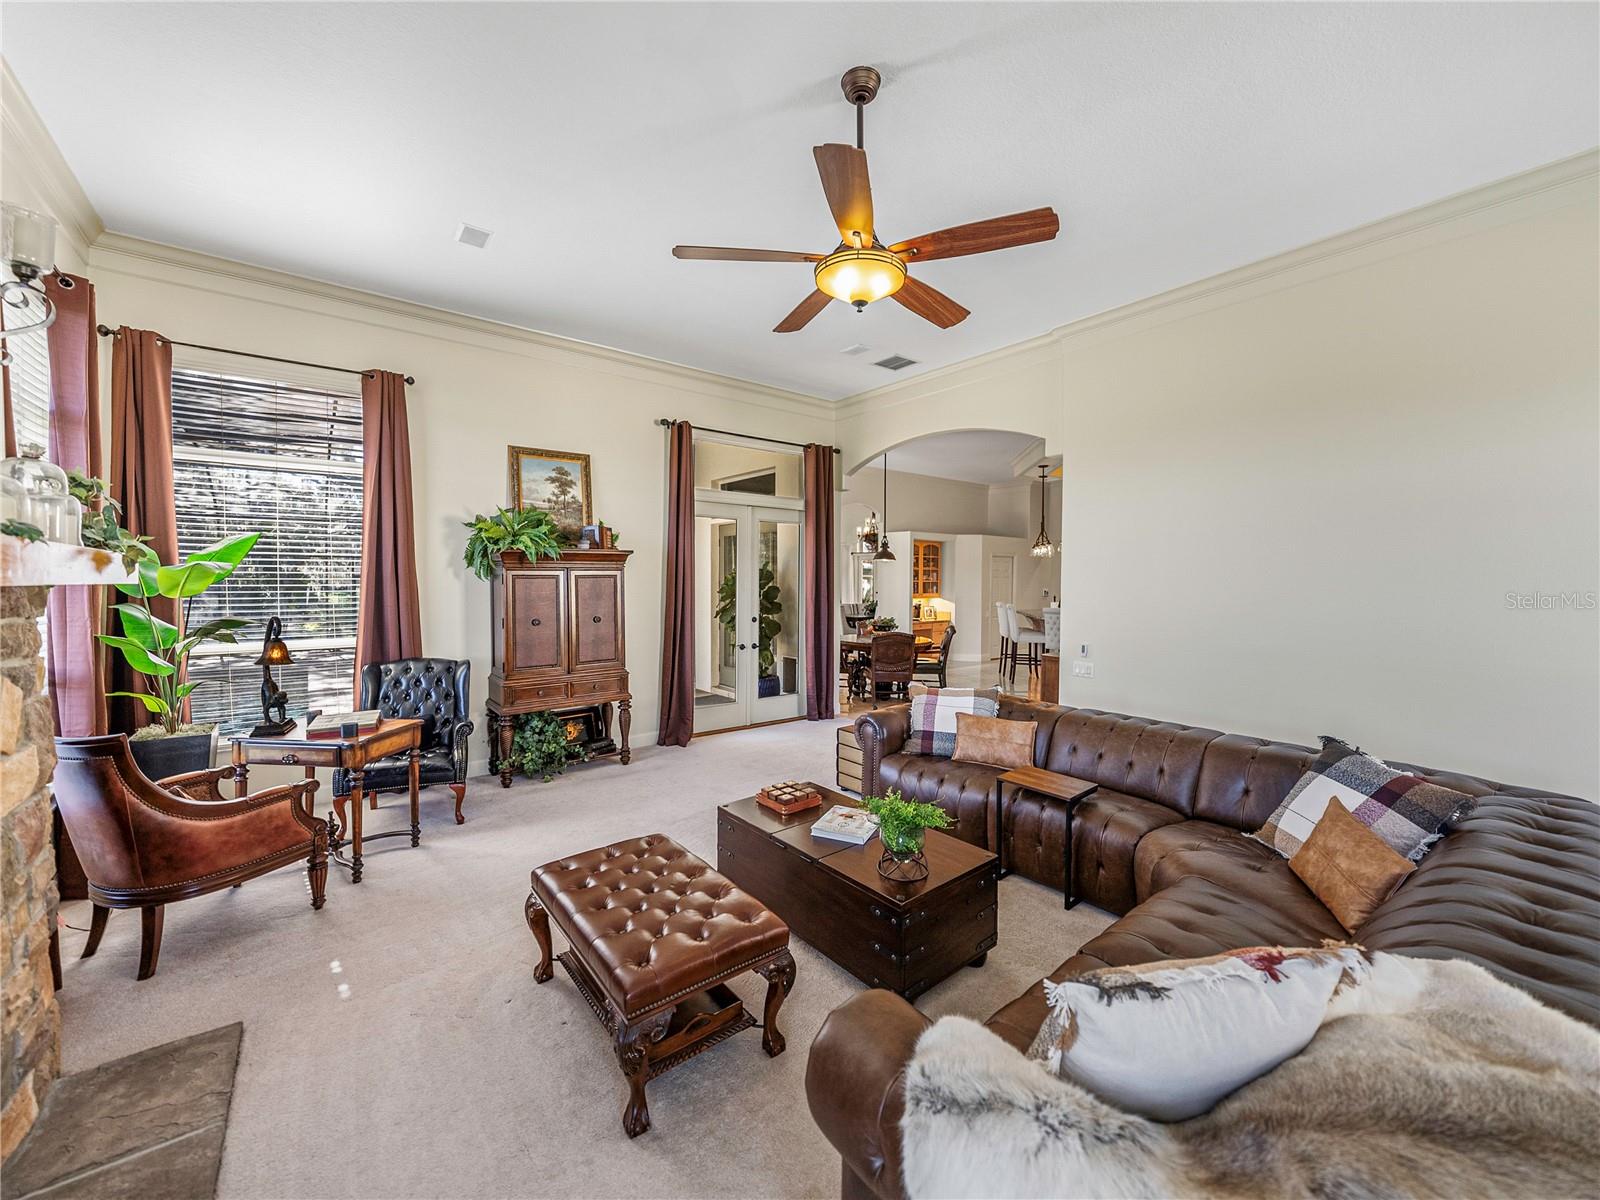
<svg viewBox="0 0 1600 1200">
<path fill-rule="evenodd" d="M 1069 704 L 1594 798 L 1600 613 L 1507 594 L 1600 590 L 1597 163 L 856 397 L 840 445 L 1046 434 Z"/>
</svg>

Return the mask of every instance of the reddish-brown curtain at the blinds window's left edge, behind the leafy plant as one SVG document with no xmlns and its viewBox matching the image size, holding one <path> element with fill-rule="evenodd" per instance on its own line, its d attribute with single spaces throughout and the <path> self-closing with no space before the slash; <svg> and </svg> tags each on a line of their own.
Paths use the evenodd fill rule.
<svg viewBox="0 0 1600 1200">
<path fill-rule="evenodd" d="M 122 504 L 123 528 L 149 538 L 163 563 L 176 563 L 173 344 L 126 325 L 117 330 L 110 350 L 110 494 Z M 117 602 L 122 595 L 110 592 L 107 598 Z M 157 597 L 150 611 L 174 626 L 181 622 L 176 600 Z M 141 691 L 139 677 L 122 654 L 110 656 L 106 675 L 110 691 Z M 133 733 L 149 723 L 134 699 L 114 698 L 107 710 L 112 733 Z"/>
</svg>

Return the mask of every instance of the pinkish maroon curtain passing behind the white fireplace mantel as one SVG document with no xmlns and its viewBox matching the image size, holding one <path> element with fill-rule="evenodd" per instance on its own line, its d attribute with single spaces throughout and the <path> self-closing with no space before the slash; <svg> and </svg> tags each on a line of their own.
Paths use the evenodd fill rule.
<svg viewBox="0 0 1600 1200">
<path fill-rule="evenodd" d="M 98 475 L 99 346 L 94 333 L 94 285 L 77 275 L 46 275 L 56 306 L 50 326 L 50 461 L 64 470 Z M 50 592 L 45 667 L 56 733 L 90 738 L 106 733 L 106 654 L 96 640 L 106 613 L 104 589 L 77 584 Z"/>
</svg>

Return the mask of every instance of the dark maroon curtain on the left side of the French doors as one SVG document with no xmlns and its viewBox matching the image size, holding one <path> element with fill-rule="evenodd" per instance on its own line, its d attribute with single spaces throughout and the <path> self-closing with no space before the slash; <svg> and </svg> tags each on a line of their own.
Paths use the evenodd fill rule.
<svg viewBox="0 0 1600 1200">
<path fill-rule="evenodd" d="M 661 614 L 661 733 L 656 746 L 694 736 L 694 427 L 667 434 L 667 571 Z"/>
</svg>

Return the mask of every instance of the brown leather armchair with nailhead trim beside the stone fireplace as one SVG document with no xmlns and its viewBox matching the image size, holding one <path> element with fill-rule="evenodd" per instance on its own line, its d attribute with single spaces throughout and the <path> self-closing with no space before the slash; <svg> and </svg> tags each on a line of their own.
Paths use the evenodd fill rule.
<svg viewBox="0 0 1600 1200">
<path fill-rule="evenodd" d="M 310 906 L 328 882 L 328 822 L 312 816 L 315 779 L 222 797 L 230 766 L 146 779 L 123 734 L 56 738 L 53 789 L 88 875 L 93 957 L 112 909 L 139 909 L 139 978 L 155 974 L 168 902 L 221 891 L 306 859 Z"/>
</svg>

